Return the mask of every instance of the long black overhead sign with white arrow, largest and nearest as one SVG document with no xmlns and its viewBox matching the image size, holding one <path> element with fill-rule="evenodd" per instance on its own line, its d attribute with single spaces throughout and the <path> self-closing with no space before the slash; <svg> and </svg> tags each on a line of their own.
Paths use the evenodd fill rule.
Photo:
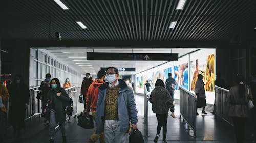
<svg viewBox="0 0 256 143">
<path fill-rule="evenodd" d="M 87 60 L 151 60 L 178 61 L 178 53 L 95 53 L 87 52 Z"/>
</svg>

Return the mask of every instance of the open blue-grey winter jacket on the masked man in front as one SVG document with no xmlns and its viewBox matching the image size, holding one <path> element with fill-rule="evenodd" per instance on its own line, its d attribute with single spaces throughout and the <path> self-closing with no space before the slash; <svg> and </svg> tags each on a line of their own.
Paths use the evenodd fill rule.
<svg viewBox="0 0 256 143">
<path fill-rule="evenodd" d="M 127 132 L 130 126 L 130 120 L 132 124 L 136 124 L 138 122 L 138 111 L 136 109 L 133 89 L 127 86 L 123 80 L 118 81 L 120 88 L 117 106 L 120 132 Z M 100 134 L 104 131 L 105 99 L 108 87 L 109 82 L 106 82 L 99 87 L 99 96 L 96 111 L 96 134 Z"/>
</svg>

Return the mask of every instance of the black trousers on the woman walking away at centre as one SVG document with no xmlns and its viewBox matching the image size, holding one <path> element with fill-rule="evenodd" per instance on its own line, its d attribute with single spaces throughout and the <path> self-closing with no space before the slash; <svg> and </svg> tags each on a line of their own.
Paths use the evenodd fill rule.
<svg viewBox="0 0 256 143">
<path fill-rule="evenodd" d="M 167 119 L 168 113 L 164 114 L 156 114 L 157 116 L 157 134 L 160 134 L 161 128 L 163 127 L 163 141 L 166 140 L 166 133 L 167 133 Z"/>
</svg>

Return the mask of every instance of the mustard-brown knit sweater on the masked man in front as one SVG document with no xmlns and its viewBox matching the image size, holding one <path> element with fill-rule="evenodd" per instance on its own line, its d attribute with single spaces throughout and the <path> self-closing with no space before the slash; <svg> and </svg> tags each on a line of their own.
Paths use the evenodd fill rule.
<svg viewBox="0 0 256 143">
<path fill-rule="evenodd" d="M 105 100 L 105 119 L 118 120 L 117 99 L 119 85 L 116 87 L 108 87 Z"/>
</svg>

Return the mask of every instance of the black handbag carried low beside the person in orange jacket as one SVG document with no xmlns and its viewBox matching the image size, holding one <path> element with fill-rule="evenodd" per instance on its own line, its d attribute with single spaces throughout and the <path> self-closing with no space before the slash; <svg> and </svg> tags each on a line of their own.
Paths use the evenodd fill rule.
<svg viewBox="0 0 256 143">
<path fill-rule="evenodd" d="M 78 126 L 84 129 L 94 128 L 92 115 L 87 115 L 86 112 L 81 112 L 81 114 L 78 115 L 77 118 L 78 118 L 78 124 L 77 124 Z"/>
</svg>

